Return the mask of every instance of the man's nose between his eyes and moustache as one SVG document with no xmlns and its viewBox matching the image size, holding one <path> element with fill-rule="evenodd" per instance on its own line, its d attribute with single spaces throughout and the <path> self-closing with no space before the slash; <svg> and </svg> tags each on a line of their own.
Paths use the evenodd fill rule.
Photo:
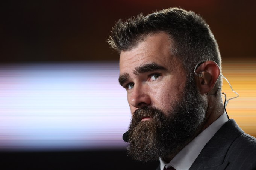
<svg viewBox="0 0 256 170">
<path fill-rule="evenodd" d="M 132 96 L 129 99 L 130 104 L 133 107 L 141 108 L 143 106 L 148 106 L 151 104 L 151 98 L 148 89 L 145 85 L 134 86 Z"/>
</svg>

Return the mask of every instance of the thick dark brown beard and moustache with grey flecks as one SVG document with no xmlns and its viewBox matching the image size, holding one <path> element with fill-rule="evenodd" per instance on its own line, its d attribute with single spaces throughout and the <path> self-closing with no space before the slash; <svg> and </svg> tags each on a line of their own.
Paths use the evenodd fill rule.
<svg viewBox="0 0 256 170">
<path fill-rule="evenodd" d="M 153 161 L 176 155 L 197 135 L 198 127 L 205 119 L 207 103 L 195 85 L 187 84 L 181 95 L 181 100 L 167 114 L 151 106 L 134 112 L 128 130 L 127 152 L 130 157 Z M 153 119 L 141 121 L 143 117 Z"/>
</svg>

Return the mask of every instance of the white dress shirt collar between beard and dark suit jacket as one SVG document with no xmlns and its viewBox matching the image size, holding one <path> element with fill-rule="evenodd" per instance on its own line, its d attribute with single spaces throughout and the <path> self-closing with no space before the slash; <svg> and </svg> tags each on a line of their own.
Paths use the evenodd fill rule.
<svg viewBox="0 0 256 170">
<path fill-rule="evenodd" d="M 188 170 L 206 143 L 228 120 L 229 119 L 227 118 L 225 112 L 204 131 L 198 134 L 198 136 L 195 137 L 190 143 L 188 143 L 188 145 L 180 150 L 180 152 L 170 161 L 170 163 L 166 163 L 162 158 L 160 158 L 160 169 L 163 170 L 164 167 L 174 167 L 176 170 Z"/>
</svg>

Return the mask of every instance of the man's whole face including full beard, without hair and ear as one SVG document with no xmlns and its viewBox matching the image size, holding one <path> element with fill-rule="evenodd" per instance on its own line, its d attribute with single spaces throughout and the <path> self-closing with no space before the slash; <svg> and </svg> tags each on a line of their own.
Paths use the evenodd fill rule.
<svg viewBox="0 0 256 170">
<path fill-rule="evenodd" d="M 169 36 L 157 33 L 120 54 L 119 82 L 132 112 L 128 154 L 136 160 L 175 155 L 205 118 L 206 103 L 170 47 Z"/>
</svg>

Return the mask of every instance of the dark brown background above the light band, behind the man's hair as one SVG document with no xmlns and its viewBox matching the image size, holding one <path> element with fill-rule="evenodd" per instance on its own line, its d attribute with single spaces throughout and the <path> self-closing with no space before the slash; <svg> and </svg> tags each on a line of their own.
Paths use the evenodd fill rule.
<svg viewBox="0 0 256 170">
<path fill-rule="evenodd" d="M 223 58 L 256 56 L 254 0 L 11 0 L 1 4 L 0 62 L 118 60 L 106 43 L 115 21 L 179 6 L 203 16 Z"/>
</svg>

